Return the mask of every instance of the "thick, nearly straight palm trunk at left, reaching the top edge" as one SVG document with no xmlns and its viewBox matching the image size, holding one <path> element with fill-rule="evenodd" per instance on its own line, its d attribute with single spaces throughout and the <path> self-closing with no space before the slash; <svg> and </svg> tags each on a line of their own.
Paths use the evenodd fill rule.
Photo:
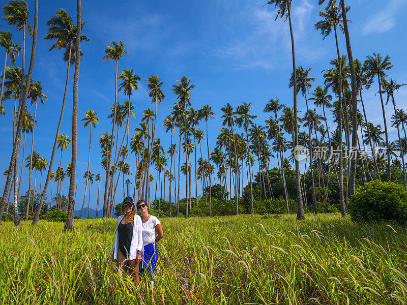
<svg viewBox="0 0 407 305">
<path fill-rule="evenodd" d="M 76 58 L 75 73 L 73 79 L 72 92 L 72 160 L 71 160 L 71 179 L 69 182 L 68 216 L 64 231 L 73 230 L 73 212 L 75 208 L 75 179 L 76 179 L 76 147 L 77 147 L 77 118 L 78 118 L 78 84 L 79 84 L 79 64 L 81 59 L 80 51 L 80 32 L 81 32 L 81 0 L 77 0 L 77 31 L 76 31 Z"/>
</svg>

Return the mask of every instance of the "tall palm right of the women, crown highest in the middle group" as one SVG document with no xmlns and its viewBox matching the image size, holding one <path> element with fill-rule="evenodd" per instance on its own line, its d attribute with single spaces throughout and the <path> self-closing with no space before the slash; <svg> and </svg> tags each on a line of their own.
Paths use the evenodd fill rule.
<svg viewBox="0 0 407 305">
<path fill-rule="evenodd" d="M 187 103 L 188 106 L 191 105 L 191 89 L 195 88 L 194 84 L 191 84 L 191 79 L 187 79 L 187 77 L 184 75 L 181 77 L 180 80 L 176 79 L 177 84 L 172 85 L 172 92 L 177 95 L 177 99 L 180 100 L 184 107 L 184 137 L 185 137 L 185 142 L 187 141 Z M 181 135 L 180 135 L 181 136 Z M 181 147 L 181 145 L 180 145 Z M 180 150 L 181 153 L 181 150 Z M 208 150 L 208 158 L 209 158 L 209 150 Z M 188 162 L 188 156 L 187 156 L 187 150 L 185 150 L 185 160 Z M 187 214 L 185 215 L 186 218 L 188 218 L 188 174 L 186 175 L 186 199 L 187 199 Z"/>
</svg>

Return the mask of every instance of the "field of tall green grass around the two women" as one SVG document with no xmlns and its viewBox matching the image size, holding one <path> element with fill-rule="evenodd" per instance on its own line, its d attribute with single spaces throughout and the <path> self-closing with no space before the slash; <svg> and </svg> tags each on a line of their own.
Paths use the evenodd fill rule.
<svg viewBox="0 0 407 305">
<path fill-rule="evenodd" d="M 109 261 L 115 220 L 0 228 L 0 304 L 406 304 L 407 232 L 340 215 L 162 219 L 155 288 Z M 261 225 L 260 225 L 261 224 Z"/>
</svg>

